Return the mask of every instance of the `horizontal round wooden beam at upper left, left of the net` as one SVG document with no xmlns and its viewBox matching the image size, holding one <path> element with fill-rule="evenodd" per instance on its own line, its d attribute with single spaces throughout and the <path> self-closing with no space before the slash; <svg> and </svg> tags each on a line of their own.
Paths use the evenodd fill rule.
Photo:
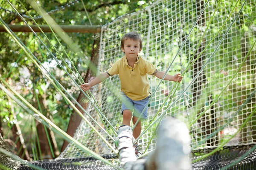
<svg viewBox="0 0 256 170">
<path fill-rule="evenodd" d="M 31 32 L 26 25 L 8 25 L 13 32 Z M 47 25 L 39 25 L 44 32 L 52 32 Z M 79 32 L 79 33 L 99 33 L 101 26 L 61 26 L 65 32 Z M 41 32 L 36 25 L 30 26 L 35 32 Z M 53 28 L 54 26 L 52 26 Z M 53 29 L 54 30 L 54 29 Z M 3 26 L 0 26 L 0 32 L 6 32 Z"/>
</svg>

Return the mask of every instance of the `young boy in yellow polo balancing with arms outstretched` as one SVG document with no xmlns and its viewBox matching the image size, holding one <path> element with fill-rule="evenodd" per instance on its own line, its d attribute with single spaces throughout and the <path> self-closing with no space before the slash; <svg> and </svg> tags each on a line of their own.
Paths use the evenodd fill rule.
<svg viewBox="0 0 256 170">
<path fill-rule="evenodd" d="M 105 73 L 100 74 L 91 82 L 82 84 L 81 89 L 87 91 L 108 77 L 118 74 L 121 82 L 122 124 L 130 126 L 131 119 L 134 124 L 137 122 L 141 112 L 147 107 L 148 99 L 151 96 L 147 74 L 162 79 L 165 73 L 157 71 L 150 62 L 139 55 L 142 49 L 142 38 L 136 32 L 125 34 L 121 40 L 121 47 L 125 56 L 116 61 Z M 174 76 L 166 74 L 164 80 L 180 82 L 182 78 L 180 74 Z M 133 109 L 134 113 L 132 114 Z M 147 109 L 142 113 L 141 119 L 147 119 Z M 135 139 L 140 136 L 140 132 L 141 121 L 134 128 L 133 136 Z M 134 144 L 134 147 L 138 156 L 139 146 Z"/>
</svg>

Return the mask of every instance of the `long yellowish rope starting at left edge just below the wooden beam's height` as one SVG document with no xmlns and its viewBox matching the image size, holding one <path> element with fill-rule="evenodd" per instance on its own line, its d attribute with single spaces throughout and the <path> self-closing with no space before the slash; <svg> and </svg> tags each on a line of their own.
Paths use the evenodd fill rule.
<svg viewBox="0 0 256 170">
<path fill-rule="evenodd" d="M 111 144 L 108 143 L 108 141 L 106 141 L 106 139 L 98 132 L 98 130 L 96 130 L 95 127 L 93 127 L 93 125 L 83 116 L 83 114 L 76 108 L 76 106 L 67 98 L 67 96 L 57 87 L 57 85 L 55 85 L 54 81 L 50 78 L 53 77 L 52 74 L 49 74 L 49 72 L 45 69 L 45 71 L 47 73 L 45 73 L 43 71 L 43 69 L 41 68 L 41 66 L 38 63 L 41 63 L 40 61 L 38 61 L 38 59 L 31 53 L 31 51 L 29 51 L 26 46 L 17 38 L 17 36 L 8 28 L 8 26 L 6 25 L 6 23 L 2 20 L 2 18 L 0 17 L 0 23 L 3 25 L 3 27 L 6 29 L 6 31 L 8 31 L 8 33 L 13 37 L 13 39 L 17 42 L 18 45 L 20 45 L 20 47 L 26 52 L 26 54 L 28 55 L 28 57 L 30 57 L 30 59 L 35 63 L 35 65 L 37 65 L 38 69 L 42 71 L 42 73 L 44 73 L 44 75 L 47 77 L 47 79 L 49 79 L 49 81 L 52 83 L 52 85 L 56 88 L 56 90 L 58 90 L 61 95 L 67 99 L 67 101 L 70 103 L 70 105 L 72 106 L 72 108 L 83 117 L 83 119 L 88 123 L 88 125 L 100 136 L 100 138 L 114 151 L 114 153 L 117 153 L 117 151 L 111 146 Z M 35 60 L 33 59 L 33 57 L 35 58 L 35 60 L 38 62 L 35 62 Z M 53 77 L 54 78 L 54 77 Z M 61 87 L 62 85 L 59 84 Z M 108 134 L 108 133 L 107 133 Z M 112 137 L 112 136 L 111 136 Z"/>
</svg>

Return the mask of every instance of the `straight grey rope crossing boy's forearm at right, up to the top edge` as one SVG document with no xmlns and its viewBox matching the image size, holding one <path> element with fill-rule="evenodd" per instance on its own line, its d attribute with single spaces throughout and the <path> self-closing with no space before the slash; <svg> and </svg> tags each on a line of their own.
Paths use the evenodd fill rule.
<svg viewBox="0 0 256 170">
<path fill-rule="evenodd" d="M 159 82 L 159 84 L 157 85 L 157 88 L 155 89 L 154 93 L 153 93 L 153 94 L 151 95 L 151 97 L 149 98 L 148 103 L 151 102 L 153 96 L 156 94 L 157 89 L 159 88 L 160 84 L 163 82 L 163 79 L 166 77 L 166 74 L 168 73 L 169 69 L 171 68 L 171 66 L 172 66 L 172 64 L 173 64 L 173 62 L 174 62 L 174 60 L 176 59 L 176 57 L 177 57 L 178 54 L 180 53 L 181 48 L 183 47 L 183 45 L 185 44 L 185 42 L 188 40 L 188 38 L 189 38 L 189 36 L 190 36 L 192 30 L 195 28 L 196 23 L 198 22 L 199 18 L 202 16 L 202 14 L 203 14 L 203 12 L 204 12 L 206 6 L 208 5 L 208 3 L 209 3 L 209 0 L 207 0 L 207 3 L 205 4 L 205 6 L 204 6 L 204 8 L 202 9 L 201 13 L 198 15 L 198 17 L 197 17 L 197 19 L 196 19 L 194 25 L 192 26 L 192 28 L 191 28 L 190 31 L 189 31 L 189 34 L 186 36 L 185 40 L 183 41 L 182 45 L 180 46 L 179 50 L 177 51 L 177 54 L 175 55 L 174 59 L 172 60 L 171 64 L 169 65 L 169 67 L 167 68 L 165 74 L 163 75 L 163 78 L 160 80 L 160 82 Z M 144 111 L 146 110 L 146 108 L 147 108 L 147 106 L 144 107 L 144 109 L 143 109 L 143 111 L 142 111 L 141 113 L 144 113 Z M 142 117 L 142 114 L 140 114 L 140 117 L 138 118 L 137 122 L 134 124 L 134 127 L 133 127 L 132 130 L 134 130 L 134 128 L 136 127 L 136 125 L 139 123 L 141 117 Z M 138 139 L 138 138 L 137 138 L 137 139 Z"/>
</svg>

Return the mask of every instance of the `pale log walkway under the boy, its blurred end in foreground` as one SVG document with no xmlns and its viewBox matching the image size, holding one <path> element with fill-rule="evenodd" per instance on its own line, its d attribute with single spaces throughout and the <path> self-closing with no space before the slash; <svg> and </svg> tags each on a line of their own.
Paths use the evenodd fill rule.
<svg viewBox="0 0 256 170">
<path fill-rule="evenodd" d="M 122 125 L 118 130 L 118 150 L 125 170 L 190 170 L 190 136 L 184 122 L 174 118 L 163 121 L 158 130 L 157 147 L 148 159 L 138 159 L 133 148 L 131 127 Z"/>
</svg>

